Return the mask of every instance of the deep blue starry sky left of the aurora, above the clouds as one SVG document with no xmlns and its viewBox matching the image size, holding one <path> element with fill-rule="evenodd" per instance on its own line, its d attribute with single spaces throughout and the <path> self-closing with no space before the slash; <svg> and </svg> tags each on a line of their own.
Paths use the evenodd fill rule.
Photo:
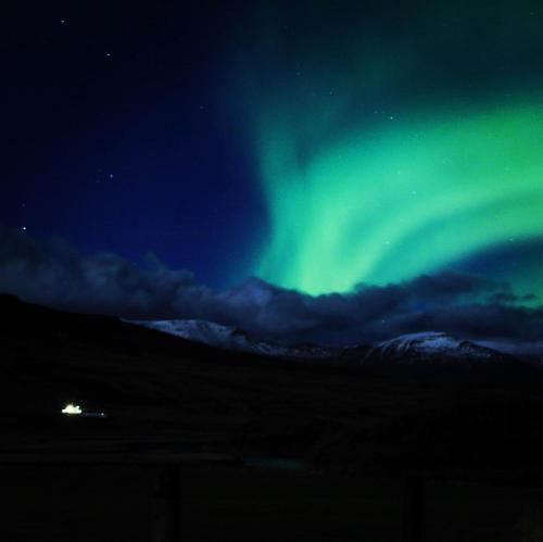
<svg viewBox="0 0 543 542">
<path fill-rule="evenodd" d="M 219 88 L 232 14 L 81 5 L 34 5 L 2 38 L 2 223 L 239 279 L 263 202 Z"/>
</svg>

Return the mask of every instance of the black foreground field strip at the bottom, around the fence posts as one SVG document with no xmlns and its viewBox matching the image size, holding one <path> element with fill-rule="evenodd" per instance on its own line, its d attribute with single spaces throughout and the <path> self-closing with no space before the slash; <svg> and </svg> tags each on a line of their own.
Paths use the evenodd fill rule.
<svg viewBox="0 0 543 542">
<path fill-rule="evenodd" d="M 150 542 L 168 502 L 160 467 L 0 469 L 2 540 Z M 193 467 L 180 476 L 180 537 L 212 541 L 400 541 L 402 483 L 240 467 Z M 9 496 L 9 499 L 5 499 Z M 543 491 L 431 482 L 421 540 L 541 540 Z"/>
</svg>

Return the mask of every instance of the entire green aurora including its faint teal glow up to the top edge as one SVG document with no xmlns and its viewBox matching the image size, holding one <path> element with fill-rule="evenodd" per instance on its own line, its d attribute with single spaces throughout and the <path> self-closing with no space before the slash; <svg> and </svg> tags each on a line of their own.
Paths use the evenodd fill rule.
<svg viewBox="0 0 543 542">
<path fill-rule="evenodd" d="M 260 9 L 239 70 L 268 220 L 253 273 L 349 292 L 513 244 L 515 268 L 485 273 L 543 293 L 522 249 L 543 239 L 535 4 L 302 3 Z"/>
</svg>

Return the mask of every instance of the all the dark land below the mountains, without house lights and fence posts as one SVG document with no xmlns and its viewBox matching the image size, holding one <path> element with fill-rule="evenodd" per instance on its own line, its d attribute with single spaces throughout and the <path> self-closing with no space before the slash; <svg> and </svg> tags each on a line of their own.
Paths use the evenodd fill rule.
<svg viewBox="0 0 543 542">
<path fill-rule="evenodd" d="M 0 311 L 1 540 L 159 540 L 162 465 L 177 463 L 184 541 L 396 541 L 413 476 L 429 480 L 422 540 L 543 541 L 532 373 L 395 379 L 9 297 Z M 66 419 L 68 401 L 109 417 Z"/>
</svg>

